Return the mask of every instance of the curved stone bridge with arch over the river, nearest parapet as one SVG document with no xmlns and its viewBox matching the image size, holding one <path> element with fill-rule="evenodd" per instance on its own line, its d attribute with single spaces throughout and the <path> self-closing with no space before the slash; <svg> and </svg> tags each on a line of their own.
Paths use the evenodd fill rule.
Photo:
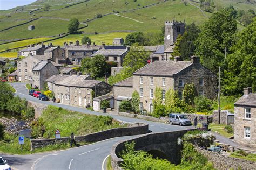
<svg viewBox="0 0 256 170">
<path fill-rule="evenodd" d="M 193 129 L 190 129 L 193 130 Z M 180 163 L 181 146 L 178 144 L 178 138 L 188 130 L 169 131 L 160 133 L 149 133 L 129 140 L 122 140 L 114 144 L 111 148 L 111 164 L 114 169 L 120 169 L 123 159 L 119 158 L 119 153 L 125 148 L 126 142 L 135 143 L 135 150 L 143 150 L 153 155 L 154 158 L 167 159 L 173 164 Z"/>
</svg>

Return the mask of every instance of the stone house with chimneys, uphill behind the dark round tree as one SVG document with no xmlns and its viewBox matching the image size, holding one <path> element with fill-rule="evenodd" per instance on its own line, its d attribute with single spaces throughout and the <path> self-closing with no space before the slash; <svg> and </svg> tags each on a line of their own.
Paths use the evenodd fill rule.
<svg viewBox="0 0 256 170">
<path fill-rule="evenodd" d="M 98 46 L 95 44 L 80 45 L 79 41 L 76 41 L 76 44 L 70 42 L 69 45 L 65 42 L 64 48 L 66 63 L 68 65 L 80 65 L 82 59 L 91 56 L 99 49 L 103 49 L 103 46 Z"/>
</svg>

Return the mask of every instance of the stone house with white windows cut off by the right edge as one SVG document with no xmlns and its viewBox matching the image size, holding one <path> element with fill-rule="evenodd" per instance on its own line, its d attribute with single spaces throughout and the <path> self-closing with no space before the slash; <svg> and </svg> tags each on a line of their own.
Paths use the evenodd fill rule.
<svg viewBox="0 0 256 170">
<path fill-rule="evenodd" d="M 244 88 L 244 95 L 234 105 L 234 140 L 256 148 L 256 93 L 251 87 Z"/>
</svg>

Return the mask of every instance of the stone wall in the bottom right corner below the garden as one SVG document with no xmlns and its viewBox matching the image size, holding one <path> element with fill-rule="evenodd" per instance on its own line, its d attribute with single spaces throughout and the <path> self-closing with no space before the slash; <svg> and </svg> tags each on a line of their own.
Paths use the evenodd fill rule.
<svg viewBox="0 0 256 170">
<path fill-rule="evenodd" d="M 255 169 L 256 163 L 244 159 L 231 158 L 227 155 L 206 151 L 195 146 L 196 150 L 203 154 L 208 161 L 213 162 L 216 169 Z"/>
</svg>

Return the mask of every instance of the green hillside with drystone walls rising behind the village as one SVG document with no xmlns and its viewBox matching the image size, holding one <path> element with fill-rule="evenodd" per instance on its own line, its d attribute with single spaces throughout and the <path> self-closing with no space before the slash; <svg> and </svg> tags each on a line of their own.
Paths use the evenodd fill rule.
<svg viewBox="0 0 256 170">
<path fill-rule="evenodd" d="M 235 9 L 246 11 L 248 9 L 256 10 L 255 4 L 246 3 L 245 0 L 213 1 L 216 8 L 222 8 L 223 6 L 232 4 Z M 50 5 L 49 11 L 41 9 L 45 4 Z M 151 4 L 154 5 L 147 7 L 147 5 Z M 172 20 L 172 18 L 185 20 L 188 24 L 194 22 L 197 25 L 201 25 L 211 16 L 211 13 L 201 11 L 199 6 L 199 3 L 191 1 L 187 1 L 185 5 L 184 1 L 181 0 L 90 0 L 87 2 L 82 0 L 38 0 L 30 5 L 0 11 L 0 30 L 39 18 L 33 22 L 0 32 L 0 42 L 57 35 L 67 32 L 69 19 L 77 18 L 80 22 L 86 22 L 95 18 L 95 15 L 99 13 L 106 15 L 107 13 L 115 12 L 114 14 L 86 22 L 88 27 L 79 31 L 83 31 L 84 34 L 89 35 L 95 32 L 104 35 L 111 33 L 111 37 L 115 37 L 115 32 L 116 37 L 119 36 L 118 33 L 120 32 L 126 32 L 126 34 L 127 32 L 133 31 L 155 32 L 160 30 L 160 26 L 164 24 L 164 20 Z M 33 11 L 35 9 L 39 10 Z M 80 27 L 86 24 L 80 24 Z M 28 25 L 35 25 L 36 29 L 28 31 Z M 242 29 L 243 26 L 238 25 L 238 28 Z M 122 36 L 126 34 L 122 34 Z M 77 37 L 82 37 L 82 35 Z M 100 38 L 107 38 L 107 36 Z M 96 39 L 98 40 L 98 38 Z M 35 40 L 33 39 L 33 41 Z M 67 38 L 63 38 L 59 39 L 58 42 L 64 42 L 66 40 Z M 111 43 L 109 38 L 99 41 Z M 25 45 L 31 43 L 32 41 L 29 40 L 22 42 Z M 17 47 L 17 43 L 9 43 L 4 45 L 4 47 L 0 45 L 0 51 L 15 47 Z"/>
</svg>

